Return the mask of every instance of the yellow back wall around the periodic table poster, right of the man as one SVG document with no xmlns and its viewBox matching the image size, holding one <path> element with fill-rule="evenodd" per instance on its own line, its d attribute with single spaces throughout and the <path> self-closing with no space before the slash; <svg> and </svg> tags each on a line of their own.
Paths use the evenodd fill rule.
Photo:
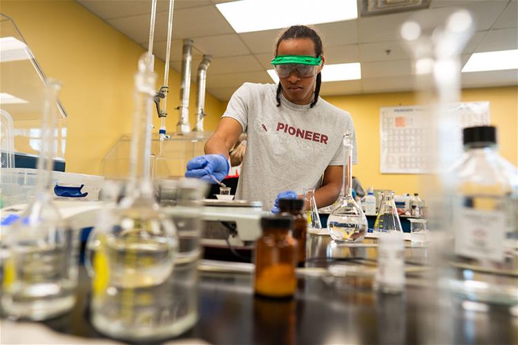
<svg viewBox="0 0 518 345">
<path fill-rule="evenodd" d="M 392 189 L 397 194 L 421 193 L 420 175 L 381 174 L 379 142 L 379 108 L 412 106 L 412 92 L 379 93 L 324 97 L 327 101 L 351 113 L 356 129 L 358 165 L 354 175 L 364 188 Z M 477 88 L 463 90 L 461 101 L 489 101 L 490 123 L 497 126 L 499 152 L 515 166 L 518 165 L 518 88 Z"/>
</svg>

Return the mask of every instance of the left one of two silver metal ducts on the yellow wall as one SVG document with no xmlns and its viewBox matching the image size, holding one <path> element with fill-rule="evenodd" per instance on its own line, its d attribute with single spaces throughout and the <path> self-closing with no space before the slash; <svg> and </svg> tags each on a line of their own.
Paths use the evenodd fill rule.
<svg viewBox="0 0 518 345">
<path fill-rule="evenodd" d="M 191 92 L 191 61 L 193 51 L 193 40 L 184 39 L 182 57 L 182 84 L 180 85 L 180 121 L 176 125 L 176 131 L 180 133 L 191 132 L 189 126 L 189 94 Z"/>
</svg>

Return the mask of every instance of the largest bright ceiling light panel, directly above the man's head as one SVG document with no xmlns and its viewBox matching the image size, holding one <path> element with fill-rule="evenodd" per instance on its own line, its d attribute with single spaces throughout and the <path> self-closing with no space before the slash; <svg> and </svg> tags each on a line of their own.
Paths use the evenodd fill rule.
<svg viewBox="0 0 518 345">
<path fill-rule="evenodd" d="M 238 33 L 356 19 L 356 6 L 356 0 L 240 0 L 216 4 Z"/>
</svg>

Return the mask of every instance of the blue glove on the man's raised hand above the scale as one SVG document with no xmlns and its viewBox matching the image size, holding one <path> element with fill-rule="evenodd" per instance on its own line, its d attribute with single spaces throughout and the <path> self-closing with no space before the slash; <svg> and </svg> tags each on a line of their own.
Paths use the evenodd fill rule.
<svg viewBox="0 0 518 345">
<path fill-rule="evenodd" d="M 224 155 L 202 155 L 194 157 L 187 163 L 185 177 L 195 177 L 215 184 L 215 181 L 209 175 L 221 181 L 229 175 L 229 170 L 230 163 Z"/>
</svg>

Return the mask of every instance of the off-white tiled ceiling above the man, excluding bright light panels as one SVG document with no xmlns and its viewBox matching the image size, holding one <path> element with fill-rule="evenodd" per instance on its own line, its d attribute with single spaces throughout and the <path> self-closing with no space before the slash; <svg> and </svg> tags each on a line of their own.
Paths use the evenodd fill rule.
<svg viewBox="0 0 518 345">
<path fill-rule="evenodd" d="M 150 0 L 77 1 L 147 49 Z M 202 55 L 212 55 L 207 92 L 227 101 L 245 81 L 272 82 L 266 70 L 271 68 L 269 62 L 279 30 L 236 33 L 215 7 L 224 1 L 227 0 L 174 1 L 171 68 L 180 72 L 182 40 L 193 39 L 193 81 Z M 358 0 L 358 9 L 360 3 Z M 169 1 L 158 0 L 153 53 L 162 60 L 166 54 L 168 6 Z M 463 50 L 463 63 L 473 52 L 518 49 L 518 0 L 432 0 L 430 8 L 418 12 L 442 23 L 457 7 L 470 10 L 476 25 L 476 32 Z M 358 17 L 314 26 L 323 37 L 326 63 L 361 62 L 362 66 L 361 80 L 323 83 L 320 95 L 412 90 L 410 55 L 403 47 L 399 27 L 416 13 Z M 517 70 L 462 74 L 464 88 L 517 84 Z"/>
</svg>

